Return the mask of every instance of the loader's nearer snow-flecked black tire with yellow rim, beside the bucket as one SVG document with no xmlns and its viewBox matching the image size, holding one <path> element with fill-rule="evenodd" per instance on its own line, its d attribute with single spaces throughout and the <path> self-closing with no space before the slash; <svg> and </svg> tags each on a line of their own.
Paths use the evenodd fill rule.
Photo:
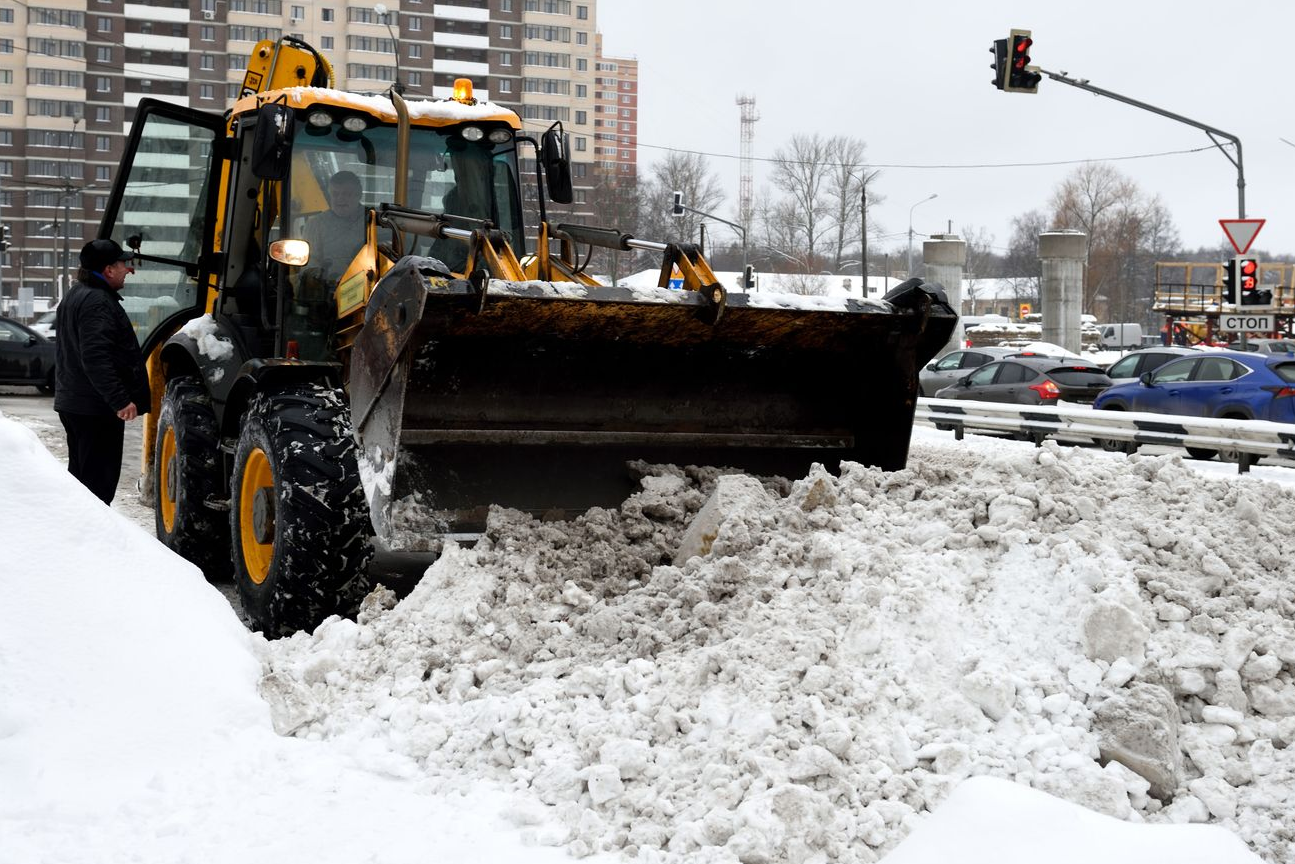
<svg viewBox="0 0 1295 864">
<path fill-rule="evenodd" d="M 342 394 L 258 394 L 234 451 L 229 530 L 243 610 L 265 636 L 313 630 L 368 588 L 369 508 Z"/>
</svg>

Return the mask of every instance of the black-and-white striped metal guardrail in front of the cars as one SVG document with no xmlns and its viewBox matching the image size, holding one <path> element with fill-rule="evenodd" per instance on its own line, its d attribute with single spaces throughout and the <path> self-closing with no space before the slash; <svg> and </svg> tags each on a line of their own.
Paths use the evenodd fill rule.
<svg viewBox="0 0 1295 864">
<path fill-rule="evenodd" d="M 1133 411 L 1093 411 L 1088 405 L 1013 405 L 970 399 L 917 400 L 914 420 L 952 429 L 961 440 L 966 430 L 1017 433 L 1041 444 L 1048 438 L 1093 443 L 1121 442 L 1125 452 L 1138 444 L 1212 449 L 1235 459 L 1246 473 L 1264 456 L 1295 459 L 1295 425 L 1267 420 L 1215 420 Z"/>
</svg>

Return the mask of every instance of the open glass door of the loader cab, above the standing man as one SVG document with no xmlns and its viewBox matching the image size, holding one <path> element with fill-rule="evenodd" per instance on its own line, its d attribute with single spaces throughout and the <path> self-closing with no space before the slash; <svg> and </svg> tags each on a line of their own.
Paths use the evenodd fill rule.
<svg viewBox="0 0 1295 864">
<path fill-rule="evenodd" d="M 139 253 L 122 306 L 145 355 L 206 310 L 224 127 L 152 98 L 135 111 L 98 236 Z"/>
</svg>

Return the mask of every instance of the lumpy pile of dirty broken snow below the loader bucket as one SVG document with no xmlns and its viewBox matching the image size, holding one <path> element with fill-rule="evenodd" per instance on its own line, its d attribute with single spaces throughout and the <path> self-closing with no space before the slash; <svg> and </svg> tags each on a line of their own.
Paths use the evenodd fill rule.
<svg viewBox="0 0 1295 864">
<path fill-rule="evenodd" d="M 403 601 L 263 644 L 262 692 L 395 776 L 530 790 L 576 855 L 872 861 L 987 775 L 1295 858 L 1291 491 L 1053 443 L 909 464 L 495 512 Z"/>
</svg>

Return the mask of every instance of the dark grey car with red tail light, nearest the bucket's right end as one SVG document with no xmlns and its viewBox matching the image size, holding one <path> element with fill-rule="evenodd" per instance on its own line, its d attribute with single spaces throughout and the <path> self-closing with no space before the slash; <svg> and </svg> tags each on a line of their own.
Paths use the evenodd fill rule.
<svg viewBox="0 0 1295 864">
<path fill-rule="evenodd" d="M 938 399 L 1050 405 L 1093 402 L 1111 386 L 1101 367 L 1071 358 L 1014 356 L 980 367 L 935 394 Z"/>
</svg>

